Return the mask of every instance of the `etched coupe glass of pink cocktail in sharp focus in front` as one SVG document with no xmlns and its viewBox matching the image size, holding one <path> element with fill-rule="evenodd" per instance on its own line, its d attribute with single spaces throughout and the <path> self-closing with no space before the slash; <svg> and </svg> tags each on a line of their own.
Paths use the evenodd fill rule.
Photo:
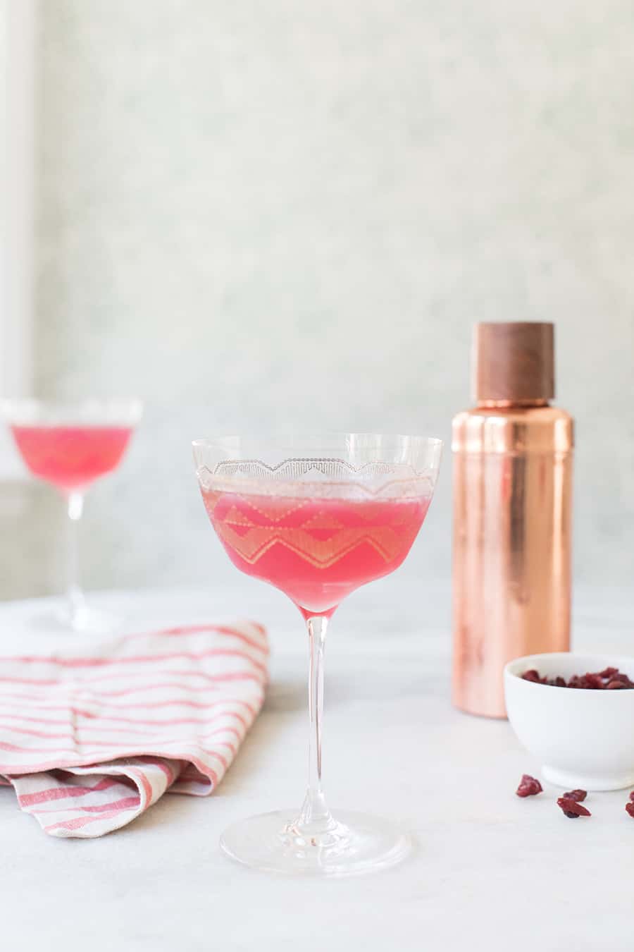
<svg viewBox="0 0 634 952">
<path fill-rule="evenodd" d="M 432 501 L 440 440 L 365 433 L 196 440 L 202 500 L 221 544 L 247 575 L 275 585 L 308 627 L 308 787 L 299 810 L 230 826 L 221 848 L 269 872 L 348 876 L 404 859 L 392 823 L 329 810 L 321 785 L 323 657 L 336 606 L 397 568 Z"/>
</svg>

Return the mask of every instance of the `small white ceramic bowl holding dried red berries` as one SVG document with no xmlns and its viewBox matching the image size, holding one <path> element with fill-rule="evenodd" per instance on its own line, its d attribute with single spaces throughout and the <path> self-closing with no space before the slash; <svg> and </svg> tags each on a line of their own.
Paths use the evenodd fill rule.
<svg viewBox="0 0 634 952">
<path fill-rule="evenodd" d="M 550 783 L 568 790 L 634 786 L 634 689 L 592 691 L 522 680 L 530 668 L 568 680 L 608 666 L 634 680 L 634 658 L 614 655 L 527 655 L 504 669 L 509 722 Z"/>
</svg>

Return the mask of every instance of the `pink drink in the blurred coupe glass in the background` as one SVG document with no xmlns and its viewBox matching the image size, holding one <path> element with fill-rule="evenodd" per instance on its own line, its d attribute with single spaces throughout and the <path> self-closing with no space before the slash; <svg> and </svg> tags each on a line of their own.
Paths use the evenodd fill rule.
<svg viewBox="0 0 634 952">
<path fill-rule="evenodd" d="M 30 471 L 63 492 L 86 486 L 114 469 L 131 426 L 11 426 Z"/>
</svg>

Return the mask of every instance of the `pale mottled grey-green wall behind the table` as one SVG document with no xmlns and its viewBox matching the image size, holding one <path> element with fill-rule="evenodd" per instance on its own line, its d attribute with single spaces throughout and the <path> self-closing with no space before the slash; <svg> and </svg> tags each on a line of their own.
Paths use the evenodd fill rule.
<svg viewBox="0 0 634 952">
<path fill-rule="evenodd" d="M 34 390 L 147 407 L 88 497 L 86 585 L 235 573 L 192 437 L 447 439 L 477 320 L 557 323 L 577 579 L 630 581 L 633 35 L 625 0 L 40 3 Z M 62 529 L 47 486 L 3 487 L 0 596 L 60 584 Z"/>
</svg>

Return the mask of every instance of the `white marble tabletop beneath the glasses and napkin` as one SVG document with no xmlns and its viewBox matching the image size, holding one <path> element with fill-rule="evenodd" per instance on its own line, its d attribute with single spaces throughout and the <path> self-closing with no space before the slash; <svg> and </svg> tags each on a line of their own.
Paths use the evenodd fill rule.
<svg viewBox="0 0 634 952">
<path fill-rule="evenodd" d="M 570 823 L 554 789 L 514 795 L 538 764 L 509 724 L 449 702 L 449 595 L 394 577 L 351 596 L 327 649 L 325 786 L 331 806 L 410 829 L 407 863 L 372 876 L 276 878 L 224 859 L 222 828 L 299 804 L 306 640 L 284 597 L 236 577 L 214 592 L 107 593 L 129 630 L 220 616 L 268 626 L 267 702 L 212 797 L 165 796 L 98 840 L 55 840 L 0 788 L 0 910 L 10 949 L 510 950 L 634 948 L 634 821 L 626 794 L 590 794 Z M 46 626 L 52 603 L 0 605 L 0 650 L 81 645 Z M 575 646 L 634 652 L 629 592 L 578 593 Z"/>
</svg>

